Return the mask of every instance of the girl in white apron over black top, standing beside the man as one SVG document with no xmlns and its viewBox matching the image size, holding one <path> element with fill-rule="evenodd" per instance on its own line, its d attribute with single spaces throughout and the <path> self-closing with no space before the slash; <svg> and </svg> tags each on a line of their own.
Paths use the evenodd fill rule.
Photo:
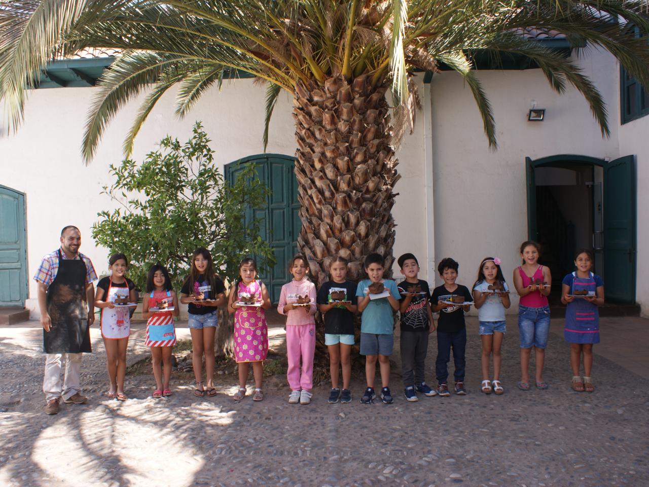
<svg viewBox="0 0 649 487">
<path fill-rule="evenodd" d="M 106 347 L 106 366 L 110 389 L 108 397 L 126 401 L 124 375 L 126 374 L 126 349 L 129 346 L 130 309 L 136 305 L 135 284 L 126 277 L 129 260 L 118 253 L 108 260 L 110 276 L 97 283 L 95 306 L 101 308 L 99 327 Z M 130 304 L 129 304 L 130 303 Z"/>
</svg>

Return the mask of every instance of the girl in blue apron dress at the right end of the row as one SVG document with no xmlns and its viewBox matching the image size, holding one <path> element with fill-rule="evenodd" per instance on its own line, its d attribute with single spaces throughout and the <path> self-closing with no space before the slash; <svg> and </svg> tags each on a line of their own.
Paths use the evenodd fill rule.
<svg viewBox="0 0 649 487">
<path fill-rule="evenodd" d="M 576 271 L 563 278 L 561 303 L 567 305 L 563 331 L 570 343 L 572 390 L 593 392 L 593 344 L 600 342 L 600 315 L 598 306 L 604 304 L 604 281 L 591 272 L 593 252 L 581 249 L 574 260 Z M 579 375 L 583 353 L 583 379 Z"/>
</svg>

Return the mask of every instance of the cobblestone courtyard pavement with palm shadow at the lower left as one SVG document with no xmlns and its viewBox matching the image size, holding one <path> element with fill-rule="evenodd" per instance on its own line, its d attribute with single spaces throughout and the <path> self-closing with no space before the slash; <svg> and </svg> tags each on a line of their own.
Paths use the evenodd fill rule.
<svg viewBox="0 0 649 487">
<path fill-rule="evenodd" d="M 158 400 L 151 377 L 127 377 L 132 399 L 118 403 L 101 395 L 104 353 L 93 328 L 95 353 L 82 366 L 90 401 L 62 405 L 56 416 L 43 414 L 37 326 L 0 327 L 1 486 L 649 486 L 649 381 L 596 355 L 596 392 L 572 392 L 569 347 L 552 334 L 550 388 L 517 390 L 515 319 L 504 343 L 504 395 L 479 391 L 480 338 L 469 318 L 469 395 L 408 403 L 393 368 L 393 405 L 361 405 L 360 381 L 351 404 L 329 405 L 327 388 L 318 388 L 311 405 L 288 405 L 281 378 L 267 384 L 262 403 L 248 396 L 234 404 L 233 375 L 217 376 L 214 398 L 194 397 L 176 380 L 175 395 Z M 129 362 L 144 356 L 142 341 L 140 327 Z M 435 347 L 433 339 L 429 383 Z"/>
</svg>

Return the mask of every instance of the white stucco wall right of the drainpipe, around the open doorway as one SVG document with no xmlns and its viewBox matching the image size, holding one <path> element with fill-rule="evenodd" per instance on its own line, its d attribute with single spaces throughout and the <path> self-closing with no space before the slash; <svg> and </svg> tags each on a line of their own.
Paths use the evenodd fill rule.
<svg viewBox="0 0 649 487">
<path fill-rule="evenodd" d="M 635 127 L 619 125 L 619 68 L 613 56 L 591 51 L 578 59 L 595 81 L 609 110 L 610 138 L 602 138 L 582 95 L 568 88 L 558 95 L 538 69 L 480 71 L 493 106 L 498 150 L 491 151 L 471 91 L 456 73 L 432 79 L 435 260 L 451 256 L 460 264 L 458 282 L 471 286 L 480 260 L 499 256 L 506 279 L 520 265 L 519 245 L 527 239 L 526 156 L 557 154 L 597 158 L 638 155 L 638 249 L 649 243 L 649 118 Z M 545 108 L 545 121 L 527 120 L 528 110 Z M 624 136 L 622 136 L 624 134 Z M 644 134 L 644 136 L 642 135 Z M 631 143 L 633 140 L 633 143 Z M 619 141 L 619 142 L 618 142 Z M 635 144 L 635 145 L 634 145 Z M 643 145 L 644 144 L 644 145 Z M 620 146 L 623 149 L 620 149 Z M 643 273 L 644 270 L 644 273 Z M 638 275 L 649 271 L 639 252 Z M 441 284 L 437 275 L 437 284 Z M 517 309 L 513 296 L 510 312 Z M 637 299 L 647 313 L 649 285 L 638 281 Z"/>
</svg>

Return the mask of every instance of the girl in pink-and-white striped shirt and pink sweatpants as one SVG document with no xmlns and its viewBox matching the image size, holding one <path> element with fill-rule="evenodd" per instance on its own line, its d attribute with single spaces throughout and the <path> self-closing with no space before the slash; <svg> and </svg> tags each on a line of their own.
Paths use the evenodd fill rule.
<svg viewBox="0 0 649 487">
<path fill-rule="evenodd" d="M 298 254 L 290 260 L 289 272 L 293 275 L 293 280 L 282 286 L 280 303 L 277 306 L 277 312 L 286 315 L 286 355 L 288 356 L 286 377 L 291 387 L 288 402 L 308 404 L 311 402 L 313 388 L 315 284 L 307 278 L 309 264 L 304 255 Z M 300 358 L 302 359 L 301 373 Z"/>
</svg>

